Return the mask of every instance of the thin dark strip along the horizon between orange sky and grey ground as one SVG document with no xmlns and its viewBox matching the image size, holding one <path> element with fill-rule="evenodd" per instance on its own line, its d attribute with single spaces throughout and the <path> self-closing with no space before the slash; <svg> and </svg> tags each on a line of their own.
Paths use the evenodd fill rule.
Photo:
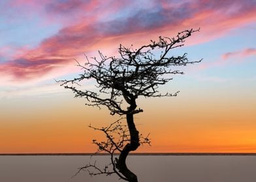
<svg viewBox="0 0 256 182">
<path fill-rule="evenodd" d="M 0 153 L 0 155 L 110 155 L 109 153 Z M 114 153 L 119 155 L 119 153 Z M 256 153 L 244 152 L 150 152 L 150 153 L 129 153 L 129 155 L 256 155 Z"/>
</svg>

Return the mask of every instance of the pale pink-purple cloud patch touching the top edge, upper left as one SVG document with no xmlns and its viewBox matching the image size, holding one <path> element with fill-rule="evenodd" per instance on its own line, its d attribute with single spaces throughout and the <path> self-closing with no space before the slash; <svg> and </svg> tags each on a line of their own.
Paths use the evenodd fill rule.
<svg viewBox="0 0 256 182">
<path fill-rule="evenodd" d="M 7 5 L 27 18 L 39 16 L 43 25 L 57 23 L 63 27 L 69 27 L 80 21 L 107 17 L 116 10 L 129 6 L 129 4 L 131 2 L 127 0 L 13 0 Z"/>
</svg>

